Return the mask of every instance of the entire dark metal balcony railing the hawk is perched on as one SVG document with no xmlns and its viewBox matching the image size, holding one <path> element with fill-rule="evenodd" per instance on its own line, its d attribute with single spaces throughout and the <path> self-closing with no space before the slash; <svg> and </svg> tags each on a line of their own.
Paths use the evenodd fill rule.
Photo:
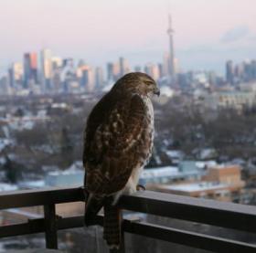
<svg viewBox="0 0 256 253">
<path fill-rule="evenodd" d="M 55 205 L 84 201 L 83 192 L 81 187 L 69 187 L 1 193 L 0 210 L 44 206 L 44 218 L 28 219 L 26 223 L 0 227 L 0 238 L 44 232 L 46 248 L 58 248 L 58 230 L 83 227 L 83 216 L 57 216 Z M 232 228 L 256 235 L 256 207 L 254 206 L 149 191 L 123 195 L 119 206 L 121 209 L 134 212 Z M 97 216 L 92 224 L 102 225 L 102 216 Z M 256 252 L 254 244 L 143 221 L 124 219 L 123 232 L 215 252 Z M 124 236 L 125 233 L 123 233 Z M 124 252 L 124 250 L 125 247 L 122 247 L 119 251 Z"/>
</svg>

